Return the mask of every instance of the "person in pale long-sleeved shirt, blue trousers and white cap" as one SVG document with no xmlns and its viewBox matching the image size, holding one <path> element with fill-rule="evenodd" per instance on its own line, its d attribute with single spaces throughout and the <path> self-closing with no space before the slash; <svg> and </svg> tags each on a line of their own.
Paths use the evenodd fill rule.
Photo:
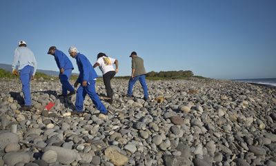
<svg viewBox="0 0 276 166">
<path fill-rule="evenodd" d="M 20 72 L 20 81 L 24 94 L 24 105 L 19 108 L 19 111 L 28 111 L 32 109 L 30 81 L 34 78 L 34 74 L 37 71 L 37 60 L 30 48 L 27 48 L 25 41 L 19 41 L 18 47 L 14 51 L 12 74 L 19 76 L 17 68 Z"/>
</svg>

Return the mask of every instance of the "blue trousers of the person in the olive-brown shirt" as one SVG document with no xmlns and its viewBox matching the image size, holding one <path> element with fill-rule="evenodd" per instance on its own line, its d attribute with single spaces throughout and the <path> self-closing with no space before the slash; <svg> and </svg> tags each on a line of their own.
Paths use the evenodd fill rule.
<svg viewBox="0 0 276 166">
<path fill-rule="evenodd" d="M 133 79 L 130 78 L 128 81 L 128 96 L 132 96 L 133 85 L 135 85 L 136 81 L 139 80 L 144 90 L 144 98 L 148 98 L 148 87 L 146 85 L 146 75 L 135 76 Z"/>
</svg>

